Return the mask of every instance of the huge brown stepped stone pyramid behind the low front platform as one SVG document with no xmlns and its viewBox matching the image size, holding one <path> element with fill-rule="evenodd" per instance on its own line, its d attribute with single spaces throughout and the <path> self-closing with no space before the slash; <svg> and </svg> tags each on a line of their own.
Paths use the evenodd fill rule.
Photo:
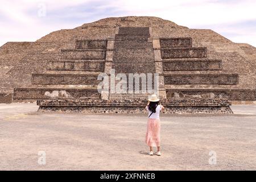
<svg viewBox="0 0 256 182">
<path fill-rule="evenodd" d="M 156 17 L 105 18 L 36 42 L 9 42 L 0 49 L 0 65 L 2 102 L 147 97 L 99 93 L 98 74 L 113 68 L 117 73 L 158 73 L 158 94 L 166 102 L 255 101 L 256 48 Z"/>
</svg>

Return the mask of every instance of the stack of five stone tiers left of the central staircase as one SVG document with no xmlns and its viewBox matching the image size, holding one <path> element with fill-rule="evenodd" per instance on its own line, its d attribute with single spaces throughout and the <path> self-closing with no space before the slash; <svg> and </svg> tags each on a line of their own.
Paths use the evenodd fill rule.
<svg viewBox="0 0 256 182">
<path fill-rule="evenodd" d="M 99 99 L 97 76 L 105 70 L 107 44 L 106 39 L 76 40 L 75 49 L 61 49 L 59 60 L 47 61 L 47 71 L 32 74 L 31 88 L 15 88 L 14 99 Z"/>
</svg>

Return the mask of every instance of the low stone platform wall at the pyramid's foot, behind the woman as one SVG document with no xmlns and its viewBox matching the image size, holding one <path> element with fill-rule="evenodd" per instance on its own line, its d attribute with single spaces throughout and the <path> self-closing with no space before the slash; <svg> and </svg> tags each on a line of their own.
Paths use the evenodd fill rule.
<svg viewBox="0 0 256 182">
<path fill-rule="evenodd" d="M 38 100 L 39 111 L 79 113 L 146 113 L 146 100 Z M 162 100 L 164 113 L 170 114 L 231 114 L 231 102 L 213 99 Z"/>
</svg>

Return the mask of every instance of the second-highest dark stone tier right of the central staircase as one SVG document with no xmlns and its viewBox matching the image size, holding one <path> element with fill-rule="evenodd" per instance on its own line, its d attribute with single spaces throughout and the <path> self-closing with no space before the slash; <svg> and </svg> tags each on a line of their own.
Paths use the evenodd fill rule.
<svg viewBox="0 0 256 182">
<path fill-rule="evenodd" d="M 207 48 L 206 47 L 161 48 L 161 55 L 163 59 L 207 57 Z"/>
</svg>

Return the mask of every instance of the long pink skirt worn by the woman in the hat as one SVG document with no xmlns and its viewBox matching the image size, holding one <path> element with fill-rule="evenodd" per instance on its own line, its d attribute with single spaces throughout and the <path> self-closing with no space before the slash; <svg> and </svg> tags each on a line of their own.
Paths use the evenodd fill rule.
<svg viewBox="0 0 256 182">
<path fill-rule="evenodd" d="M 145 142 L 150 147 L 160 147 L 160 119 L 148 118 Z"/>
</svg>

